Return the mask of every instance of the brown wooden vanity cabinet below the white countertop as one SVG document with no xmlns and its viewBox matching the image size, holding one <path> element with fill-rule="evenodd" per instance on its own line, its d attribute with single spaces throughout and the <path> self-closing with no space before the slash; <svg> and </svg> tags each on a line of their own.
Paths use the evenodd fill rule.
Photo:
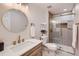
<svg viewBox="0 0 79 59">
<path fill-rule="evenodd" d="M 21 56 L 42 56 L 42 43 L 38 44 L 37 46 L 35 46 L 31 50 L 25 52 Z"/>
</svg>

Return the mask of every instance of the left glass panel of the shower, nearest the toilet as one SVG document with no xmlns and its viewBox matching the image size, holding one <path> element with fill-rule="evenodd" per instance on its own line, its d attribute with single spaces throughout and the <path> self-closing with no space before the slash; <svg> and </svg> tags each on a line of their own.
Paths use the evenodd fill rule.
<svg viewBox="0 0 79 59">
<path fill-rule="evenodd" d="M 56 21 L 50 22 L 50 39 L 53 43 L 62 44 L 61 25 Z"/>
</svg>

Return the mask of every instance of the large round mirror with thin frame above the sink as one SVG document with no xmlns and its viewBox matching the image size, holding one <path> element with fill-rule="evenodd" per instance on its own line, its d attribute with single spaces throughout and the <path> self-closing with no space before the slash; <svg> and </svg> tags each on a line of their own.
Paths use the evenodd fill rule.
<svg viewBox="0 0 79 59">
<path fill-rule="evenodd" d="M 23 12 L 16 9 L 10 9 L 4 13 L 2 24 L 7 30 L 17 33 L 26 29 L 28 19 Z"/>
</svg>

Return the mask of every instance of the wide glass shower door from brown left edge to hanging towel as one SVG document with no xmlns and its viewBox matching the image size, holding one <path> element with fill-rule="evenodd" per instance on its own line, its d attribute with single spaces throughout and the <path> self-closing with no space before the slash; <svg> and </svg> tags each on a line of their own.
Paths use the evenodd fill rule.
<svg viewBox="0 0 79 59">
<path fill-rule="evenodd" d="M 51 43 L 72 46 L 72 29 L 68 28 L 68 23 L 50 21 L 49 37 Z"/>
</svg>

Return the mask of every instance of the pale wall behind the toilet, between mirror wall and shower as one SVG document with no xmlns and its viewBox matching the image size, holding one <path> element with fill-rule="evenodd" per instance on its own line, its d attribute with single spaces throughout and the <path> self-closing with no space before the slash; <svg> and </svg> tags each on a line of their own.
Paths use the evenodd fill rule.
<svg viewBox="0 0 79 59">
<path fill-rule="evenodd" d="M 48 9 L 38 4 L 29 4 L 30 9 L 30 22 L 35 23 L 35 33 L 36 39 L 39 39 L 41 36 L 41 24 L 46 23 L 46 30 L 48 31 Z M 48 33 L 47 33 L 48 35 Z"/>
</svg>

